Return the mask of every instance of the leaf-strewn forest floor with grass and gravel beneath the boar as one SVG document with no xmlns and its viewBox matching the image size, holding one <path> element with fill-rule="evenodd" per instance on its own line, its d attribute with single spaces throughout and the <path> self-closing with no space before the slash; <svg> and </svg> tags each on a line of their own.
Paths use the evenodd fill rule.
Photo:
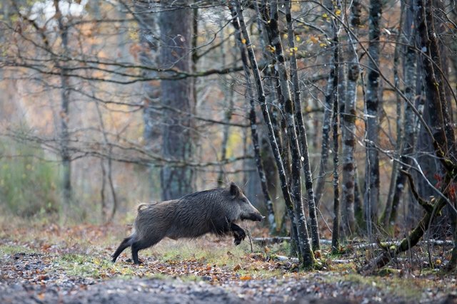
<svg viewBox="0 0 457 304">
<path fill-rule="evenodd" d="M 129 227 L 0 223 L 0 303 L 457 303 L 456 274 L 414 258 L 391 271 L 361 276 L 366 252 L 331 256 L 321 249 L 322 271 L 299 270 L 286 243 L 272 246 L 205 236 L 163 240 L 110 256 Z M 420 259 L 419 259 L 420 260 Z M 403 268 L 403 269 L 401 269 Z M 407 271 L 405 269 L 408 269 Z"/>
</svg>

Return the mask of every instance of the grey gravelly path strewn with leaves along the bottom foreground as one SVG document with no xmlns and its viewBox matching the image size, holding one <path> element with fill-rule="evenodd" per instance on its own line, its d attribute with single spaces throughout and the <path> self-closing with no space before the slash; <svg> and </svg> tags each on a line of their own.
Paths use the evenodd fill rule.
<svg viewBox="0 0 457 304">
<path fill-rule="evenodd" d="M 37 253 L 4 255 L 0 263 L 0 303 L 457 303 L 444 289 L 423 290 L 411 300 L 375 281 L 344 281 L 331 272 L 261 280 L 94 279 L 59 271 Z"/>
</svg>

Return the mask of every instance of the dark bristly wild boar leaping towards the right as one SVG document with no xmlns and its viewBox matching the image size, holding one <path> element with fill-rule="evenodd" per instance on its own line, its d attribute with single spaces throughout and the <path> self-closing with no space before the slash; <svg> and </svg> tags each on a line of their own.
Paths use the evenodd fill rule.
<svg viewBox="0 0 457 304">
<path fill-rule="evenodd" d="M 139 264 L 138 251 L 154 246 L 161 239 L 198 238 L 213 233 L 219 236 L 232 233 L 238 245 L 246 233 L 236 221 L 261 221 L 258 212 L 241 189 L 231 183 L 226 188 L 195 192 L 152 204 L 141 204 L 132 234 L 121 242 L 111 256 L 115 262 L 125 248 L 131 246 L 134 263 Z"/>
</svg>

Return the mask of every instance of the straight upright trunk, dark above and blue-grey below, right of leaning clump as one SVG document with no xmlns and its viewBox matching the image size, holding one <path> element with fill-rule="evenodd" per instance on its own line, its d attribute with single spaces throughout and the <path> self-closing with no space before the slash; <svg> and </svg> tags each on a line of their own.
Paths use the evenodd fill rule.
<svg viewBox="0 0 457 304">
<path fill-rule="evenodd" d="M 378 145 L 379 133 L 379 38 L 381 36 L 381 14 L 382 3 L 380 0 L 370 1 L 369 13 L 369 44 L 368 53 L 373 61 L 368 62 L 368 83 L 366 89 L 366 174 L 365 174 L 365 196 L 364 213 L 366 230 L 368 236 L 375 231 L 378 221 L 378 200 L 379 200 L 379 155 L 376 146 Z"/>
</svg>

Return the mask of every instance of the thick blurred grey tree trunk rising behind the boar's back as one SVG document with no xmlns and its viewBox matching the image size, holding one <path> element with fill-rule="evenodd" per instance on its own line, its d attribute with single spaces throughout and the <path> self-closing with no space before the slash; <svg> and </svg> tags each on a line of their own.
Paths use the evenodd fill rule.
<svg viewBox="0 0 457 304">
<path fill-rule="evenodd" d="M 162 6 L 159 25 L 161 31 L 161 68 L 176 68 L 191 71 L 191 48 L 193 14 L 189 1 L 174 1 L 170 7 Z M 176 22 L 179 20 L 179 22 Z M 185 162 L 194 151 L 193 119 L 195 111 L 194 82 L 191 78 L 161 81 L 161 103 L 164 110 L 162 127 L 162 153 L 171 161 L 184 165 L 166 164 L 161 169 L 162 199 L 176 199 L 194 190 L 194 169 Z"/>
</svg>

